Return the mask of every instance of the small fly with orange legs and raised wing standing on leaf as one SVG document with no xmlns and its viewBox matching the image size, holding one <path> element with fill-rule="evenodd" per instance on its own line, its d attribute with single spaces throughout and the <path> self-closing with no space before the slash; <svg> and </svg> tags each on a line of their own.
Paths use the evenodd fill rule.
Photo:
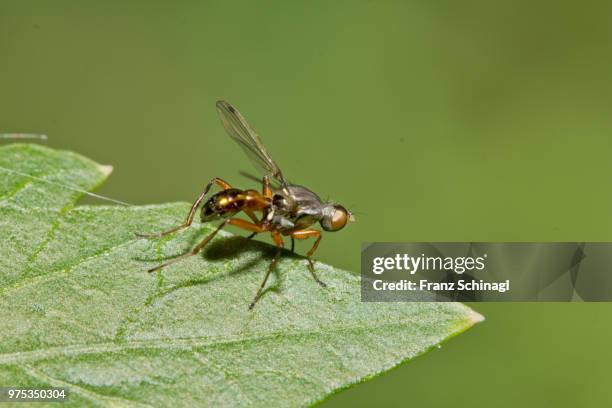
<svg viewBox="0 0 612 408">
<path fill-rule="evenodd" d="M 308 269 L 314 280 L 325 287 L 325 283 L 317 277 L 312 261 L 312 255 L 321 242 L 322 233 L 312 227 L 319 223 L 325 231 L 339 231 L 346 226 L 348 221 L 354 221 L 353 215 L 340 204 L 324 202 L 308 188 L 287 182 L 259 135 L 232 105 L 225 101 L 218 101 L 217 112 L 227 134 L 244 150 L 254 166 L 262 173 L 261 192 L 252 189 L 237 189 L 220 178 L 213 178 L 195 200 L 182 224 L 158 234 L 136 235 L 143 238 L 156 238 L 187 228 L 192 224 L 198 209 L 200 209 L 202 222 L 222 222 L 191 251 L 156 266 L 149 272 L 157 271 L 198 254 L 222 228 L 233 225 L 251 232 L 249 238 L 269 232 L 277 246 L 276 254 L 268 266 L 249 310 L 261 297 L 270 273 L 278 262 L 279 255 L 284 248 L 283 237 L 291 238 L 292 251 L 295 239 L 314 239 L 312 248 L 306 253 Z M 221 191 L 204 201 L 213 185 L 217 185 Z M 246 214 L 250 220 L 236 218 L 239 213 Z"/>
</svg>

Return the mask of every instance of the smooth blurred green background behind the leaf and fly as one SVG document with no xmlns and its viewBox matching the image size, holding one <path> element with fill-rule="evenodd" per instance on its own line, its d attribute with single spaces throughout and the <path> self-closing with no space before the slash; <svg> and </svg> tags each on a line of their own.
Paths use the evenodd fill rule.
<svg viewBox="0 0 612 408">
<path fill-rule="evenodd" d="M 612 3 L 0 0 L 0 132 L 115 172 L 99 192 L 192 201 L 254 184 L 235 104 L 286 176 L 362 241 L 612 241 Z M 4 142 L 2 142 L 4 143 Z M 300 246 L 303 249 L 304 246 Z M 612 305 L 474 304 L 487 320 L 322 405 L 603 407 Z"/>
</svg>

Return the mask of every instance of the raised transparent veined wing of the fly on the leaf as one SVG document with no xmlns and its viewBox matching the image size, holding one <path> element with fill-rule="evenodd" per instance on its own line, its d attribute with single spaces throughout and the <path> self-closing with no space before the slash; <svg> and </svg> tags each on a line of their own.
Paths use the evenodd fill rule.
<svg viewBox="0 0 612 408">
<path fill-rule="evenodd" d="M 259 135 L 248 124 L 246 119 L 236 108 L 225 101 L 217 101 L 217 112 L 223 122 L 223 127 L 228 135 L 247 154 L 249 159 L 264 175 L 275 178 L 281 185 L 285 185 L 285 179 L 278 165 L 266 150 Z"/>
</svg>

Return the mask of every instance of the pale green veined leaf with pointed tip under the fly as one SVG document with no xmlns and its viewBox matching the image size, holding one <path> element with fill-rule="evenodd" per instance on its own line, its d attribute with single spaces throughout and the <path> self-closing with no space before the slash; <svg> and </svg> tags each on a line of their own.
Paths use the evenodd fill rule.
<svg viewBox="0 0 612 408">
<path fill-rule="evenodd" d="M 212 231 L 134 237 L 188 203 L 75 207 L 110 169 L 35 145 L 0 148 L 0 167 L 0 385 L 66 387 L 78 406 L 304 406 L 481 319 L 458 303 L 362 303 L 358 276 L 317 263 L 323 289 L 289 254 L 249 311 L 272 247 L 222 233 L 149 274 Z"/>
</svg>

